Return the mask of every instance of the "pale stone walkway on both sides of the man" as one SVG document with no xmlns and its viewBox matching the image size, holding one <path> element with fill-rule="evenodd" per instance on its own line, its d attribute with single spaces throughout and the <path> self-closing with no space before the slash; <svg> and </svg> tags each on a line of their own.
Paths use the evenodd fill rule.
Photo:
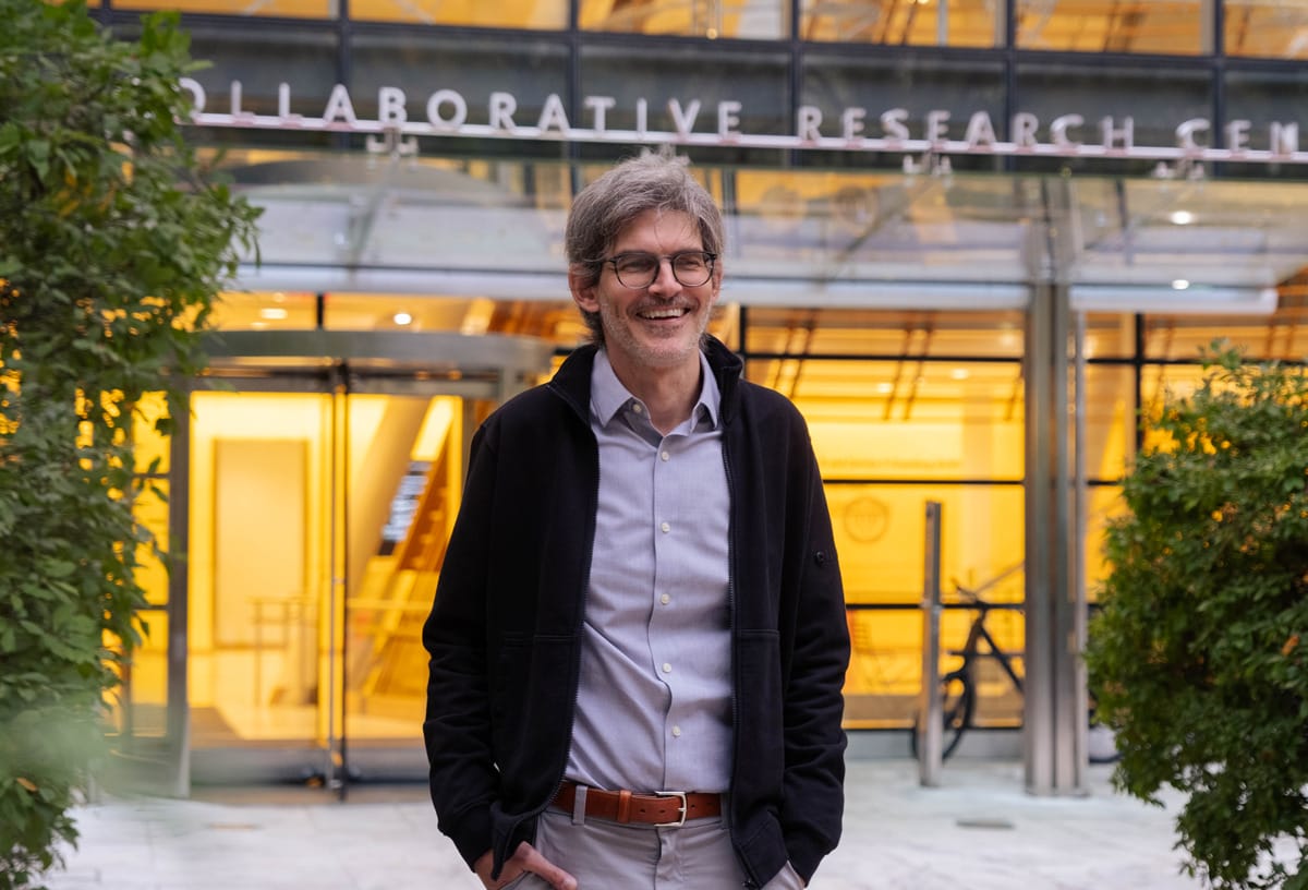
<svg viewBox="0 0 1308 890">
<path fill-rule="evenodd" d="M 1012 762 L 956 758 L 922 788 L 910 760 L 852 760 L 845 839 L 814 890 L 1172 890 L 1179 798 L 1033 797 Z M 51 890 L 477 890 L 436 828 L 425 788 L 199 789 L 187 801 L 107 798 L 76 811 L 78 849 Z M 600 889 L 590 889 L 600 890 Z M 712 890 L 712 889 L 706 889 Z"/>
</svg>

